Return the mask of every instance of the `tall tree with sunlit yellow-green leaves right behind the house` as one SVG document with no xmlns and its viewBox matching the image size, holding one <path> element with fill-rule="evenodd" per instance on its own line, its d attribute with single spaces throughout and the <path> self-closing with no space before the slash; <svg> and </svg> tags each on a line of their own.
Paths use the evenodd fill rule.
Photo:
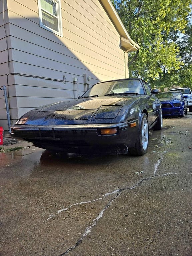
<svg viewBox="0 0 192 256">
<path fill-rule="evenodd" d="M 165 88 L 179 82 L 185 65 L 178 38 L 185 33 L 192 0 L 112 0 L 131 38 L 141 46 L 129 53 L 130 77 Z"/>
</svg>

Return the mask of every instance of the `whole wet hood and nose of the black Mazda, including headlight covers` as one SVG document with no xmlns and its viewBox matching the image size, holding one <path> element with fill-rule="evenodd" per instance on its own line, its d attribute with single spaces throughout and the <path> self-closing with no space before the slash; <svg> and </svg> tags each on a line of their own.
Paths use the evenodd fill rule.
<svg viewBox="0 0 192 256">
<path fill-rule="evenodd" d="M 118 113 L 140 96 L 84 98 L 42 106 L 26 113 L 17 124 L 68 125 L 118 122 Z M 23 120 L 23 121 L 22 121 Z"/>
</svg>

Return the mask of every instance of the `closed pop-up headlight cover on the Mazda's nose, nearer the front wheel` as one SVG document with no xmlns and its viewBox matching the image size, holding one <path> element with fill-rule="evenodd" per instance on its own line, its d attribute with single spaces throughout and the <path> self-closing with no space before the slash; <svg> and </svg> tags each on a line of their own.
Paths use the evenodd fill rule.
<svg viewBox="0 0 192 256">
<path fill-rule="evenodd" d="M 122 106 L 114 106 L 114 105 L 113 106 L 101 106 L 97 110 L 94 118 L 95 119 L 112 119 L 112 118 L 115 118 L 118 115 L 121 108 L 122 108 Z"/>
</svg>

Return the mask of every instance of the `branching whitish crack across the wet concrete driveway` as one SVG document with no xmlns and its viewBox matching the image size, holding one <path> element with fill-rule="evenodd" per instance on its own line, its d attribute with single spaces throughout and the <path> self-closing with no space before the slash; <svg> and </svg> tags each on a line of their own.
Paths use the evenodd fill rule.
<svg viewBox="0 0 192 256">
<path fill-rule="evenodd" d="M 57 214 L 59 214 L 60 212 L 66 211 L 67 209 L 71 208 L 72 206 L 76 206 L 76 205 L 80 205 L 80 204 L 84 204 L 84 203 L 92 203 L 92 202 L 95 202 L 95 201 L 98 201 L 98 200 L 102 200 L 102 199 L 106 198 L 108 195 L 116 194 L 116 195 L 109 201 L 109 203 L 104 207 L 104 209 L 99 213 L 99 216 L 93 220 L 93 224 L 85 229 L 84 234 L 83 234 L 83 235 L 81 236 L 81 238 L 75 243 L 75 245 L 72 246 L 72 247 L 69 247 L 64 253 L 60 254 L 59 256 L 63 256 L 63 255 L 68 254 L 68 252 L 74 250 L 78 245 L 80 245 L 80 244 L 82 243 L 83 239 L 91 232 L 91 229 L 92 229 L 94 226 L 96 226 L 97 221 L 98 221 L 100 218 L 102 218 L 104 211 L 105 211 L 107 208 L 109 208 L 109 207 L 111 206 L 112 202 L 121 194 L 122 191 L 124 191 L 124 190 L 132 190 L 132 189 L 134 189 L 135 187 L 139 186 L 142 182 L 144 182 L 144 181 L 146 181 L 146 180 L 150 180 L 150 179 L 153 179 L 153 178 L 156 178 L 156 177 L 163 177 L 163 176 L 165 176 L 165 175 L 177 174 L 176 172 L 165 173 L 165 174 L 161 174 L 161 175 L 156 174 L 156 172 L 157 172 L 157 170 L 158 170 L 158 166 L 160 165 L 162 159 L 163 159 L 163 154 L 161 155 L 161 158 L 157 161 L 157 163 L 154 164 L 154 175 L 153 175 L 153 176 L 140 180 L 135 186 L 132 186 L 131 188 L 121 188 L 121 189 L 117 189 L 117 190 L 115 190 L 115 191 L 113 191 L 113 192 L 106 193 L 106 194 L 103 196 L 103 198 L 98 198 L 98 199 L 94 199 L 94 200 L 92 200 L 92 201 L 87 201 L 87 202 L 76 203 L 76 204 L 73 204 L 73 205 L 69 205 L 67 208 L 63 208 L 63 209 L 57 211 Z M 55 215 L 53 215 L 53 216 L 55 216 Z M 52 217 L 49 217 L 48 219 L 51 219 L 51 218 L 52 218 Z M 47 219 L 47 220 L 48 220 L 48 219 Z"/>
</svg>

